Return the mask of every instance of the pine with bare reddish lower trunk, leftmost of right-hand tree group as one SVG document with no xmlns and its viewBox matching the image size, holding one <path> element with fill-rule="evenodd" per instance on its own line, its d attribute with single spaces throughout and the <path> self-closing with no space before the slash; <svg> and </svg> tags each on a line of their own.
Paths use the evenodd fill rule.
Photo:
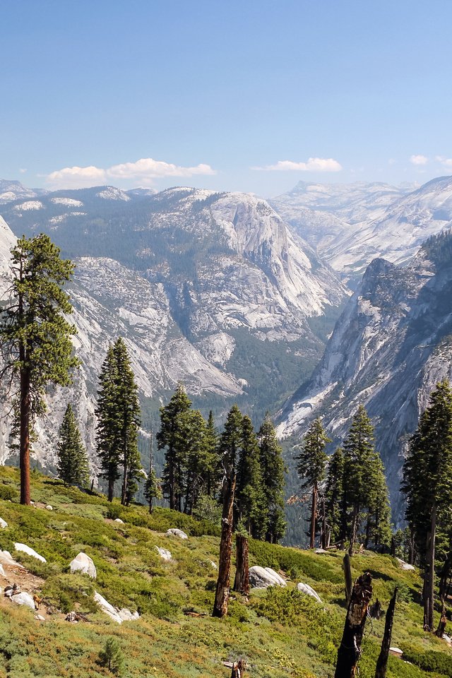
<svg viewBox="0 0 452 678">
<path fill-rule="evenodd" d="M 326 436 L 319 417 L 311 422 L 304 436 L 302 449 L 297 457 L 297 472 L 304 479 L 302 489 L 311 487 L 311 520 L 309 529 L 309 548 L 314 549 L 316 540 L 317 499 L 319 484 L 325 477 L 326 456 L 325 447 L 330 439 Z"/>
</svg>

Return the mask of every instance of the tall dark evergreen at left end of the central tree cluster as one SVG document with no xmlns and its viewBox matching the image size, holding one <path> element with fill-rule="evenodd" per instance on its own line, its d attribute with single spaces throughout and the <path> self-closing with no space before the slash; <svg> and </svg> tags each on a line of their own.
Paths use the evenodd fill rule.
<svg viewBox="0 0 452 678">
<path fill-rule="evenodd" d="M 184 441 L 185 421 L 182 415 L 189 412 L 191 400 L 182 383 L 165 407 L 160 408 L 160 431 L 157 433 L 159 450 L 165 449 L 162 490 L 169 499 L 169 508 L 182 511 L 184 496 L 184 464 L 186 446 Z"/>
</svg>

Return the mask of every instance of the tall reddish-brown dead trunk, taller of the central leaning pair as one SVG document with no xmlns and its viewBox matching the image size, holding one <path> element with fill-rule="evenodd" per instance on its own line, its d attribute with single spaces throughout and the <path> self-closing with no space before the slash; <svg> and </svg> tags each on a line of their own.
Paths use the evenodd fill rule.
<svg viewBox="0 0 452 678">
<path fill-rule="evenodd" d="M 217 590 L 213 605 L 213 617 L 224 617 L 227 614 L 227 600 L 231 573 L 232 520 L 234 508 L 235 475 L 225 481 L 223 512 L 221 518 L 220 561 L 218 564 Z"/>
</svg>

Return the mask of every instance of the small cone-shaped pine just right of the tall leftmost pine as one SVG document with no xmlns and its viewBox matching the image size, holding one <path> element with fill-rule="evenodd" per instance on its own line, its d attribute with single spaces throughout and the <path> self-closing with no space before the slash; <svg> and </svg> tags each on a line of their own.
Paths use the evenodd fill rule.
<svg viewBox="0 0 452 678">
<path fill-rule="evenodd" d="M 71 405 L 64 412 L 57 445 L 58 477 L 66 485 L 83 487 L 89 480 L 89 464 Z"/>
</svg>

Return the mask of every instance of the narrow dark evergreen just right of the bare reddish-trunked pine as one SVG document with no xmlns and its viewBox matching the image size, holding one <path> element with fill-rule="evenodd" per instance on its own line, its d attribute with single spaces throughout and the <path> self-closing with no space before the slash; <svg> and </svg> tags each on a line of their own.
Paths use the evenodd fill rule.
<svg viewBox="0 0 452 678">
<path fill-rule="evenodd" d="M 342 516 L 344 503 L 344 454 L 342 448 L 338 447 L 328 460 L 326 474 L 325 511 L 328 526 L 326 545 L 328 546 L 331 539 L 333 543 L 338 542 L 341 538 L 345 539 L 345 534 L 341 536 L 341 527 L 344 523 Z M 347 525 L 346 509 L 345 525 Z"/>
</svg>

